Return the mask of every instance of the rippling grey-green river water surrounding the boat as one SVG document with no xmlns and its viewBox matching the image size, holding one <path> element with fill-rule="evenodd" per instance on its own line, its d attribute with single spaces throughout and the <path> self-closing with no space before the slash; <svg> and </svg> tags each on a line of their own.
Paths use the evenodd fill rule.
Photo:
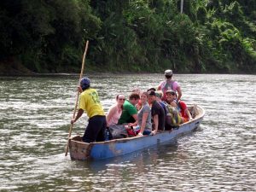
<svg viewBox="0 0 256 192">
<path fill-rule="evenodd" d="M 90 76 L 105 111 L 117 93 L 161 74 Z M 254 191 L 256 76 L 175 75 L 183 100 L 206 109 L 199 130 L 109 160 L 64 156 L 78 77 L 0 78 L 0 190 Z M 86 116 L 73 127 L 84 132 Z"/>
</svg>

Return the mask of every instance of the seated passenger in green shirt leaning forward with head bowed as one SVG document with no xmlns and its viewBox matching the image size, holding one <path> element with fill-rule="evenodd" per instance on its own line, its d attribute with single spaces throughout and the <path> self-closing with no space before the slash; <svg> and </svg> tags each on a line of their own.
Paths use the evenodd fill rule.
<svg viewBox="0 0 256 192">
<path fill-rule="evenodd" d="M 123 111 L 118 124 L 135 123 L 137 124 L 137 108 L 135 105 L 139 101 L 140 96 L 137 93 L 131 93 L 129 100 L 125 100 Z"/>
</svg>

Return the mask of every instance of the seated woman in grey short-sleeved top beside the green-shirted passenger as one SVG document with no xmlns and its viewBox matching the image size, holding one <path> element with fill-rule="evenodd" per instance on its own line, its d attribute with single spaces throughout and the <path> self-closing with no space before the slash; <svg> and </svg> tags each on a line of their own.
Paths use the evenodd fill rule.
<svg viewBox="0 0 256 192">
<path fill-rule="evenodd" d="M 148 92 L 143 92 L 141 95 L 142 108 L 138 111 L 138 125 L 140 131 L 137 136 L 149 135 L 152 131 L 151 111 L 148 105 Z M 134 126 L 135 124 L 131 124 Z"/>
</svg>

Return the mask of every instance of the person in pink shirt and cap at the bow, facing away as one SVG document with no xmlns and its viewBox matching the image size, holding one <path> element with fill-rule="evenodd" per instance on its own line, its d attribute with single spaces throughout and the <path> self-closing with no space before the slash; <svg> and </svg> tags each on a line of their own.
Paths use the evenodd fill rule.
<svg viewBox="0 0 256 192">
<path fill-rule="evenodd" d="M 167 69 L 165 71 L 165 76 L 166 76 L 166 80 L 160 82 L 157 90 L 162 90 L 162 92 L 163 92 L 162 100 L 165 102 L 167 102 L 166 101 L 166 90 L 174 90 L 175 92 L 177 91 L 176 100 L 178 102 L 182 96 L 182 90 L 180 88 L 180 85 L 177 84 L 177 81 L 172 79 L 172 70 L 171 69 Z"/>
</svg>

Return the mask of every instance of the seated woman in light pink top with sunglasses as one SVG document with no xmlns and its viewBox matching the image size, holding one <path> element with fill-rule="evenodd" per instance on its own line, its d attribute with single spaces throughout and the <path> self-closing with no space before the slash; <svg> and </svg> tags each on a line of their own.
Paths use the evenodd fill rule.
<svg viewBox="0 0 256 192">
<path fill-rule="evenodd" d="M 118 124 L 119 118 L 123 111 L 123 104 L 125 102 L 125 96 L 119 94 L 116 96 L 115 100 L 116 100 L 116 103 L 113 104 L 108 109 L 108 114 L 106 116 L 108 127 L 109 127 L 109 125 L 117 125 Z"/>
</svg>

